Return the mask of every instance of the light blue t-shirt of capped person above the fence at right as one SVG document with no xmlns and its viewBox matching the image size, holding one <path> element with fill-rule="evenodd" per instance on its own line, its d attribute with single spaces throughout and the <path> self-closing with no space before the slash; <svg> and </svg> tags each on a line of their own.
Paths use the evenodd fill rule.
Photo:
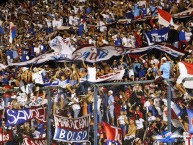
<svg viewBox="0 0 193 145">
<path fill-rule="evenodd" d="M 163 72 L 162 77 L 164 79 L 170 78 L 171 62 L 167 61 L 160 66 L 160 71 Z"/>
</svg>

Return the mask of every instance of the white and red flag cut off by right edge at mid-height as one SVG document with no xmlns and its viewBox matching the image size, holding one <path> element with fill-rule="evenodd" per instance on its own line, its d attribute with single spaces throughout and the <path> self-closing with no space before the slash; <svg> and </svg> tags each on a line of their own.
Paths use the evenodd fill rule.
<svg viewBox="0 0 193 145">
<path fill-rule="evenodd" d="M 193 80 L 184 80 L 185 78 L 192 78 L 193 77 L 193 64 L 187 62 L 179 62 L 179 77 L 178 79 L 183 80 L 183 86 L 188 89 L 193 89 Z"/>
</svg>

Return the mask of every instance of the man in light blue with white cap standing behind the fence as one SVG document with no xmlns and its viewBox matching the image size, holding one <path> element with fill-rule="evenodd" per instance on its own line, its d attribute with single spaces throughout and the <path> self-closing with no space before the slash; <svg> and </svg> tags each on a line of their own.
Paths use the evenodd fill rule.
<svg viewBox="0 0 193 145">
<path fill-rule="evenodd" d="M 113 91 L 112 90 L 109 90 L 108 91 L 108 106 L 107 106 L 107 109 L 108 109 L 108 114 L 110 115 L 110 118 L 111 118 L 111 124 L 114 125 L 114 96 L 113 96 Z M 109 120 L 109 117 L 107 115 L 107 120 Z M 109 121 L 108 121 L 109 122 Z"/>
</svg>

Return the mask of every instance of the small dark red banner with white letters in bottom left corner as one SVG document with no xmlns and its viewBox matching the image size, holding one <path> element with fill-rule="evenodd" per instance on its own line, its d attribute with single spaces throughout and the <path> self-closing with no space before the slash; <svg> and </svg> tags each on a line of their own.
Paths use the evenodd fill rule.
<svg viewBox="0 0 193 145">
<path fill-rule="evenodd" d="M 9 131 L 3 132 L 3 129 L 0 128 L 0 143 L 12 141 L 12 140 L 13 140 L 13 131 L 9 130 Z"/>
</svg>

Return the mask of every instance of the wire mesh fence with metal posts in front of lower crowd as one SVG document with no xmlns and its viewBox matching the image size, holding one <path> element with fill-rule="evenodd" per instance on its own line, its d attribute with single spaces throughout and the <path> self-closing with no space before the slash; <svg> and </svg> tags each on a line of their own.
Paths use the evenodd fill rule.
<svg viewBox="0 0 193 145">
<path fill-rule="evenodd" d="M 40 101 L 40 104 L 42 104 L 42 101 L 46 102 L 44 103 L 47 112 L 45 120 L 32 118 L 25 123 L 14 126 L 12 129 L 17 135 L 13 137 L 14 142 L 12 143 L 20 144 L 24 142 L 23 139 L 26 136 L 41 136 L 41 138 L 44 138 L 43 141 L 48 141 L 47 144 L 50 142 L 62 145 L 69 144 L 53 139 L 55 130 L 53 114 L 68 118 L 90 115 L 89 142 L 80 144 L 104 145 L 110 133 L 105 130 L 104 123 L 122 129 L 122 138 L 115 140 L 123 145 L 133 145 L 138 140 L 148 145 L 159 144 L 159 135 L 166 138 L 167 133 L 178 135 L 174 141 L 172 140 L 173 144 L 184 143 L 183 133 L 188 130 L 186 107 L 191 105 L 191 101 L 183 102 L 178 90 L 171 85 L 170 91 L 168 85 L 166 81 L 156 80 L 140 81 L 139 83 L 84 84 L 84 86 L 78 87 L 85 87 L 85 92 L 82 89 L 72 88 L 74 92 L 70 93 L 68 89 L 61 87 L 39 90 L 39 99 L 36 99 L 35 104 L 38 104 L 37 101 Z M 14 96 L 18 95 L 17 92 L 17 90 L 5 90 L 2 95 Z M 171 95 L 168 93 L 171 93 Z M 171 98 L 168 98 L 169 96 Z M 74 97 L 77 100 L 72 99 Z M 30 97 L 28 96 L 28 98 Z M 42 100 L 42 98 L 44 99 Z M 20 99 L 22 100 L 22 98 Z M 9 107 L 6 100 L 5 105 Z M 11 103 L 14 105 L 12 105 L 13 108 L 9 109 L 23 109 L 17 108 L 15 99 L 12 99 Z M 25 109 L 33 107 L 35 107 L 33 104 L 24 106 Z M 168 107 L 171 107 L 171 112 L 168 112 L 170 110 Z M 171 120 L 168 121 L 168 118 Z M 10 130 L 6 127 L 6 122 L 5 115 L 1 122 L 4 133 Z M 76 143 L 71 142 L 71 144 Z"/>
</svg>

